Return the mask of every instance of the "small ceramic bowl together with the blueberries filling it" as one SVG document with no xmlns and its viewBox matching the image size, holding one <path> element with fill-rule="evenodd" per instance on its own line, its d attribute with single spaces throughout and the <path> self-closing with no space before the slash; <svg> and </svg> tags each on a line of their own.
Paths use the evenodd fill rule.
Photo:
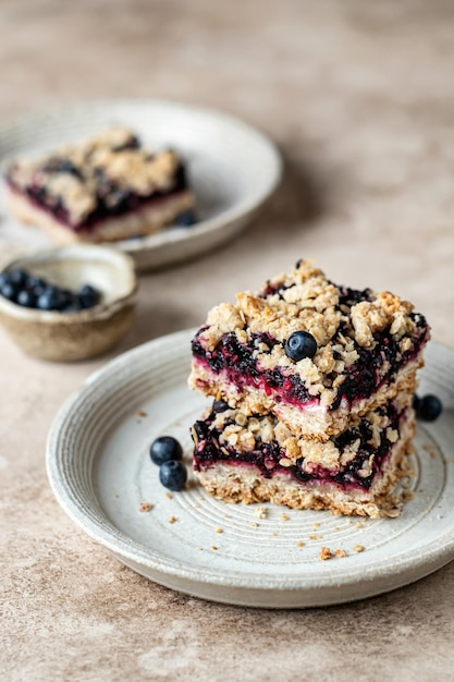
<svg viewBox="0 0 454 682">
<path fill-rule="evenodd" d="M 137 278 L 130 256 L 71 245 L 26 255 L 0 271 L 0 322 L 28 355 L 100 355 L 128 331 Z"/>
</svg>

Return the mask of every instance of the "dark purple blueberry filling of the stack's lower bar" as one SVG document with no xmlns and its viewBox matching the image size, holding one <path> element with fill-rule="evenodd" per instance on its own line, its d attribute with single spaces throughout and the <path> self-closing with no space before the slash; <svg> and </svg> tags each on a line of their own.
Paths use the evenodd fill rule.
<svg viewBox="0 0 454 682">
<path fill-rule="evenodd" d="M 213 421 L 216 413 L 211 412 L 205 421 L 198 421 L 193 426 L 193 439 L 195 442 L 194 468 L 196 472 L 209 470 L 222 462 L 236 466 L 254 466 L 263 478 L 272 478 L 277 474 L 290 475 L 298 483 L 331 484 L 340 489 L 359 488 L 369 490 L 375 479 L 383 472 L 383 465 L 391 455 L 394 442 L 388 435 L 397 430 L 402 421 L 407 417 L 407 411 L 397 413 L 392 404 L 381 407 L 378 414 L 385 415 L 388 427 L 380 431 L 380 442 L 372 442 L 372 425 L 363 419 L 359 425 L 341 434 L 334 439 L 334 446 L 342 453 L 359 439 L 356 454 L 347 464 L 339 471 L 330 471 L 321 466 L 310 466 L 310 473 L 305 471 L 305 459 L 302 456 L 292 466 L 282 466 L 280 460 L 286 458 L 285 450 L 277 440 L 262 442 L 255 439 L 255 447 L 250 451 L 237 450 L 226 441 L 221 442 L 223 429 L 233 424 L 233 419 L 226 419 L 223 428 L 216 428 Z M 258 417 L 259 418 L 259 417 Z M 390 430 L 389 430 L 390 429 Z"/>
</svg>

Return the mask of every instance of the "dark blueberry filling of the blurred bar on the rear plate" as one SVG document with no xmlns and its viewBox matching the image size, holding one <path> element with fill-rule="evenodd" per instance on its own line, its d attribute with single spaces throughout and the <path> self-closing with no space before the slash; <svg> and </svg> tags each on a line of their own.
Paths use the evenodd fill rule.
<svg viewBox="0 0 454 682">
<path fill-rule="evenodd" d="M 69 173 L 78 178 L 81 182 L 86 181 L 83 168 L 76 168 L 71 161 L 65 159 L 51 159 L 44 170 L 47 173 Z M 163 198 L 187 190 L 186 172 L 183 165 L 179 166 L 170 190 L 165 192 L 154 191 L 148 195 L 139 195 L 122 187 L 110 180 L 102 169 L 95 169 L 91 180 L 94 180 L 95 185 L 96 206 L 83 221 L 74 223 L 71 221 L 70 212 L 63 199 L 50 194 L 46 186 L 39 182 L 39 176 L 36 182 L 25 187 L 16 185 L 11 178 L 7 178 L 7 182 L 13 192 L 25 195 L 34 206 L 50 214 L 59 222 L 74 231 L 91 230 L 107 218 L 124 216 L 132 211 L 140 210 L 155 202 L 158 203 Z"/>
</svg>

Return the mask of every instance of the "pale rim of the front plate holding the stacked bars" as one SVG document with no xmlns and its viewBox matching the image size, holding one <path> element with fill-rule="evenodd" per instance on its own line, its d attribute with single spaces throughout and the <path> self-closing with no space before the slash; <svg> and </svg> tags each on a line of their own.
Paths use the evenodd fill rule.
<svg viewBox="0 0 454 682">
<path fill-rule="evenodd" d="M 373 567 L 364 567 L 359 577 L 355 574 L 352 575 L 352 571 L 347 565 L 345 565 L 344 569 L 340 569 L 340 567 L 338 565 L 335 574 L 333 574 L 332 571 L 329 570 L 329 565 L 327 565 L 326 568 L 328 569 L 328 571 L 326 570 L 324 572 L 324 579 L 321 572 L 317 574 L 317 576 L 308 576 L 304 575 L 304 571 L 299 576 L 282 576 L 278 574 L 271 577 L 269 574 L 263 575 L 260 573 L 255 573 L 254 575 L 250 575 L 242 573 L 238 570 L 216 570 L 216 568 L 206 565 L 201 569 L 197 569 L 194 565 L 188 567 L 187 562 L 184 562 L 182 560 L 162 558 L 159 555 L 159 551 L 147 548 L 142 543 L 133 540 L 125 533 L 116 528 L 106 514 L 105 517 L 108 522 L 109 529 L 107 529 L 107 526 L 101 527 L 98 523 L 88 519 L 86 514 L 87 510 L 81 509 L 78 504 L 75 503 L 73 499 L 71 499 L 71 497 L 68 497 L 68 490 L 65 489 L 63 479 L 61 477 L 61 468 L 59 467 L 59 464 L 61 464 L 63 460 L 56 451 L 56 447 L 60 435 L 60 429 L 64 425 L 65 418 L 71 415 L 72 411 L 77 404 L 77 401 L 85 395 L 86 391 L 89 391 L 90 388 L 94 389 L 98 387 L 106 376 L 114 376 L 115 373 L 118 375 L 115 377 L 116 381 L 122 373 L 122 369 L 125 366 L 127 366 L 132 361 L 137 361 L 140 358 L 140 356 L 147 355 L 148 353 L 152 352 L 152 350 L 156 349 L 158 345 L 168 345 L 169 343 L 174 343 L 177 346 L 179 344 L 182 344 L 184 342 L 187 345 L 189 357 L 191 355 L 188 341 L 195 331 L 196 328 L 191 328 L 159 337 L 111 360 L 103 367 L 97 369 L 91 375 L 89 375 L 83 382 L 83 385 L 65 400 L 52 422 L 46 448 L 46 467 L 48 479 L 52 491 L 62 509 L 79 528 L 82 528 L 89 537 L 91 537 L 91 539 L 96 540 L 98 544 L 111 551 L 120 560 L 121 558 L 127 559 L 128 561 L 137 563 L 144 568 L 151 569 L 154 572 L 163 574 L 164 576 L 174 576 L 180 580 L 195 581 L 198 584 L 219 585 L 230 587 L 232 589 L 248 589 L 259 593 L 261 592 L 263 594 L 283 592 L 297 592 L 299 594 L 306 594 L 308 592 L 312 593 L 314 590 L 322 592 L 323 588 L 328 585 L 331 588 L 346 588 L 355 585 L 367 585 L 372 583 L 373 581 L 377 582 L 378 579 L 383 580 L 384 577 L 389 579 L 390 576 L 394 579 L 394 582 L 397 581 L 398 583 L 397 579 L 400 576 L 403 576 L 405 572 L 410 570 L 419 571 L 418 575 L 413 580 L 405 580 L 402 583 L 404 585 L 408 584 L 409 582 L 414 582 L 414 580 L 418 580 L 419 577 L 424 577 L 428 573 L 438 570 L 439 568 L 454 559 L 454 537 L 452 535 L 452 532 L 447 529 L 443 534 L 438 535 L 431 541 L 425 544 L 422 555 L 415 558 L 412 552 L 405 552 L 405 550 L 402 550 L 397 555 L 393 556 L 393 565 L 391 570 L 389 567 L 386 569 L 383 565 L 386 562 L 386 559 L 384 557 L 380 561 L 378 561 L 377 564 L 373 564 Z M 451 349 L 447 345 L 438 343 L 435 341 L 431 341 L 430 344 L 434 349 L 433 352 L 437 352 L 437 350 L 439 350 L 440 352 L 440 350 L 442 350 L 454 353 L 454 349 Z M 61 461 L 59 460 L 59 458 L 61 459 Z M 326 564 L 328 564 L 328 562 L 323 562 L 323 565 Z M 426 572 L 424 570 L 425 568 L 427 568 Z M 156 580 L 156 582 L 159 582 L 158 579 L 150 580 Z M 259 580 L 260 584 L 257 584 L 257 580 Z M 326 583 L 320 584 L 322 580 L 324 580 Z M 389 589 L 392 589 L 395 586 L 398 586 L 398 584 L 396 585 L 393 583 L 393 586 Z M 180 590 L 184 592 L 184 589 L 182 588 L 180 588 Z M 386 592 L 386 589 L 379 590 L 379 593 L 382 592 Z M 379 593 L 373 592 L 361 594 L 360 597 L 354 598 L 361 598 L 365 596 L 370 596 L 371 594 Z M 232 604 L 234 600 L 232 600 Z M 329 602 L 340 604 L 342 602 L 342 599 L 330 600 Z M 246 604 L 246 606 L 253 605 Z"/>
</svg>

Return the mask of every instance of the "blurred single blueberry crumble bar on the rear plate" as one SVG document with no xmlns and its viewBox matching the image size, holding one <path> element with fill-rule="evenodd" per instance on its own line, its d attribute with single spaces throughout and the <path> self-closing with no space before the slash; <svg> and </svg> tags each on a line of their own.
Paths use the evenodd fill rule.
<svg viewBox="0 0 454 682">
<path fill-rule="evenodd" d="M 184 224 L 194 222 L 182 159 L 171 149 L 150 153 L 124 127 L 40 159 L 19 159 L 5 180 L 12 214 L 60 243 L 143 236 L 181 215 Z"/>
</svg>

